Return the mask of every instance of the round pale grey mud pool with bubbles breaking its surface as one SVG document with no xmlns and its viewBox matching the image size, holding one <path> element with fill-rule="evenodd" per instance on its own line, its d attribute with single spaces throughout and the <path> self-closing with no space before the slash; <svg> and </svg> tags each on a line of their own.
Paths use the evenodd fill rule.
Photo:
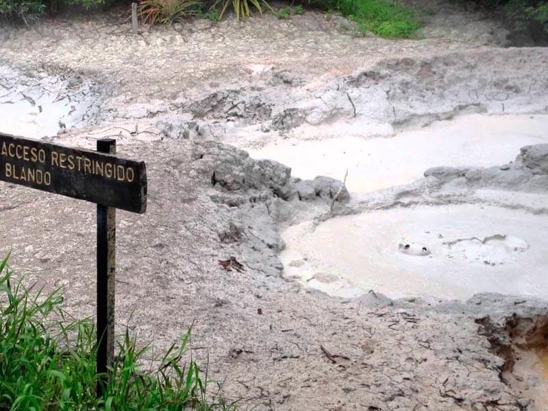
<svg viewBox="0 0 548 411">
<path fill-rule="evenodd" d="M 339 297 L 548 299 L 546 228 L 545 215 L 492 206 L 397 208 L 289 227 L 281 259 L 286 277 Z"/>
</svg>

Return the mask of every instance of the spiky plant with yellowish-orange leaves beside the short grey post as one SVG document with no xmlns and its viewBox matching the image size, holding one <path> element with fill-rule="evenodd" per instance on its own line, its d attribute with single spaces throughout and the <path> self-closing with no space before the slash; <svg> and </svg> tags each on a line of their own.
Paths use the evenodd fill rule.
<svg viewBox="0 0 548 411">
<path fill-rule="evenodd" d="M 142 23 L 179 23 L 186 16 L 199 14 L 201 0 L 143 0 L 139 5 Z"/>
</svg>

